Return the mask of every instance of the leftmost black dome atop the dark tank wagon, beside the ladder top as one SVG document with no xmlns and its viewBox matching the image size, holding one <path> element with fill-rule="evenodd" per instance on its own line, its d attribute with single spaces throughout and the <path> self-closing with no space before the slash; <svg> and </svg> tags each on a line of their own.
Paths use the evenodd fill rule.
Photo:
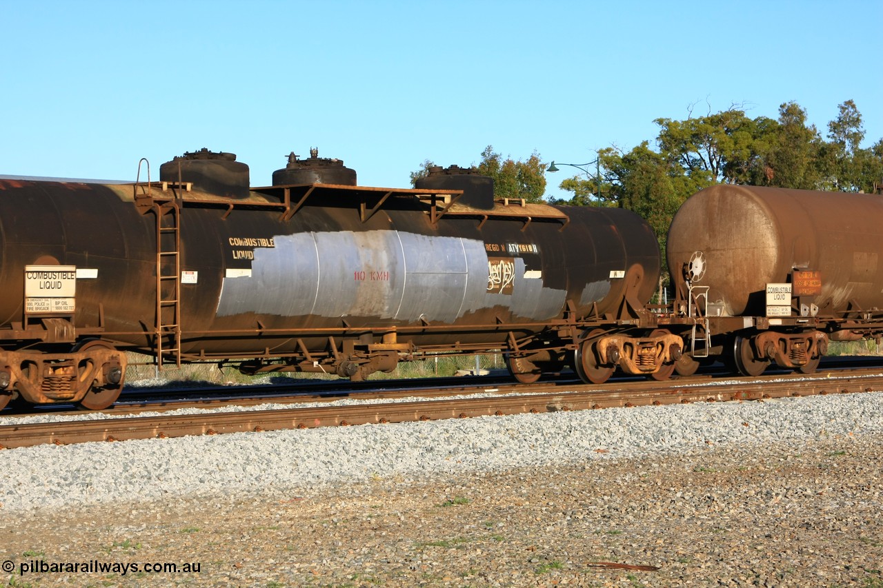
<svg viewBox="0 0 883 588">
<path fill-rule="evenodd" d="M 191 182 L 198 190 L 228 198 L 247 198 L 251 177 L 248 166 L 236 154 L 223 151 L 185 152 L 160 166 L 161 182 Z"/>
</svg>

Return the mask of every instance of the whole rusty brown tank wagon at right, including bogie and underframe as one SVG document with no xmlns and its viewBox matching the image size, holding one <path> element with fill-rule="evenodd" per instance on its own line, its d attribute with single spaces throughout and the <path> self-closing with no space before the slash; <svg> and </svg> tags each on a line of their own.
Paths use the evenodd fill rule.
<svg viewBox="0 0 883 588">
<path fill-rule="evenodd" d="M 829 340 L 879 342 L 880 218 L 883 199 L 868 194 L 715 185 L 691 196 L 667 245 L 679 310 L 698 320 L 691 355 L 744 375 L 772 362 L 812 373 Z"/>
</svg>

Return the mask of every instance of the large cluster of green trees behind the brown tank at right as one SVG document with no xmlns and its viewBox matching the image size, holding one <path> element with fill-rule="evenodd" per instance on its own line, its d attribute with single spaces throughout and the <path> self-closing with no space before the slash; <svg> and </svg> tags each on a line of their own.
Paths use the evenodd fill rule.
<svg viewBox="0 0 883 588">
<path fill-rule="evenodd" d="M 733 105 L 685 120 L 658 118 L 656 149 L 644 141 L 630 151 L 600 149 L 599 172 L 569 177 L 573 192 L 558 204 L 623 207 L 653 228 L 664 252 L 668 226 L 683 201 L 714 184 L 767 185 L 802 190 L 879 192 L 883 139 L 869 149 L 861 113 L 848 100 L 821 138 L 796 102 L 779 107 L 778 119 L 747 117 Z"/>
</svg>

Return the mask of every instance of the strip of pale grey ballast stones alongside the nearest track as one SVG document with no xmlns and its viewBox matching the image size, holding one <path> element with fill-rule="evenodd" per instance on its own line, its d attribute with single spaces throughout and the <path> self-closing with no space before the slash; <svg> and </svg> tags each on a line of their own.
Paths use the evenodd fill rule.
<svg viewBox="0 0 883 588">
<path fill-rule="evenodd" d="M 580 464 L 883 432 L 883 393 L 42 445 L 0 451 L 6 512 Z"/>
</svg>

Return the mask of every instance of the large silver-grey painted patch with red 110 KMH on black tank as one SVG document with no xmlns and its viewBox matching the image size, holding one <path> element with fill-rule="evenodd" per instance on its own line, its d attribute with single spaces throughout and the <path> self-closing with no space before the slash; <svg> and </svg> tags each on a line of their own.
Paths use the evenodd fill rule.
<svg viewBox="0 0 883 588">
<path fill-rule="evenodd" d="M 489 292 L 487 251 L 475 239 L 370 230 L 297 233 L 274 242 L 272 249 L 255 249 L 251 275 L 224 278 L 218 316 L 452 322 L 502 306 L 515 316 L 546 320 L 561 313 L 566 297 L 564 290 L 544 288 L 535 274 L 525 275 L 525 260 L 518 257 L 511 258 L 510 292 Z"/>
</svg>

